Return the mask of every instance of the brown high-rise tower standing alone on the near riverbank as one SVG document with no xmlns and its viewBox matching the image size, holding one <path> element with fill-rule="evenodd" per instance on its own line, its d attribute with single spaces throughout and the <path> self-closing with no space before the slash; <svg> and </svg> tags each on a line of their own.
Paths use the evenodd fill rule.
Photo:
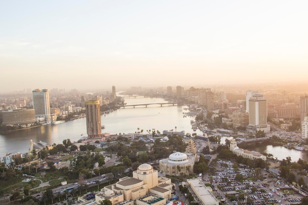
<svg viewBox="0 0 308 205">
<path fill-rule="evenodd" d="M 100 107 L 98 100 L 86 101 L 86 121 L 88 137 L 101 137 Z"/>
</svg>

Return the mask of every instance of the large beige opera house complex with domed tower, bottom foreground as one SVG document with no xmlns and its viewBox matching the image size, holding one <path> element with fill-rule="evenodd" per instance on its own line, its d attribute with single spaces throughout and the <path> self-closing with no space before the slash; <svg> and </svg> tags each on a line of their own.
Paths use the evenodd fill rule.
<svg viewBox="0 0 308 205">
<path fill-rule="evenodd" d="M 105 186 L 102 192 L 95 195 L 99 204 L 104 199 L 110 199 L 113 204 L 145 205 L 155 199 L 151 205 L 166 204 L 171 199 L 171 190 L 175 186 L 170 178 L 158 177 L 158 171 L 149 164 L 141 164 L 133 177 L 125 176 L 115 184 Z M 154 203 L 155 202 L 155 203 Z"/>
</svg>

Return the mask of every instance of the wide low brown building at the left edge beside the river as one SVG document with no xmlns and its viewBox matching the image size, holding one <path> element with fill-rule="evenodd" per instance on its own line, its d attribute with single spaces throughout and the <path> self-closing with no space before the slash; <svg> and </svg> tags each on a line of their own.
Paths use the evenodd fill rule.
<svg viewBox="0 0 308 205">
<path fill-rule="evenodd" d="M 2 120 L 4 125 L 27 125 L 34 123 L 35 111 L 34 109 L 16 109 L 2 111 Z"/>
</svg>

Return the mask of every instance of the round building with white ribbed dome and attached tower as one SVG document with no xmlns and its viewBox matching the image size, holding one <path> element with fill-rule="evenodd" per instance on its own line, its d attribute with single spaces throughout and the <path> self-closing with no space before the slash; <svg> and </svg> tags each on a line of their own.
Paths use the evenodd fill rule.
<svg viewBox="0 0 308 205">
<path fill-rule="evenodd" d="M 159 171 L 165 175 L 180 176 L 181 173 L 189 175 L 193 173 L 193 165 L 196 159 L 196 146 L 189 141 L 186 153 L 174 152 L 168 158 L 159 161 Z"/>
</svg>

